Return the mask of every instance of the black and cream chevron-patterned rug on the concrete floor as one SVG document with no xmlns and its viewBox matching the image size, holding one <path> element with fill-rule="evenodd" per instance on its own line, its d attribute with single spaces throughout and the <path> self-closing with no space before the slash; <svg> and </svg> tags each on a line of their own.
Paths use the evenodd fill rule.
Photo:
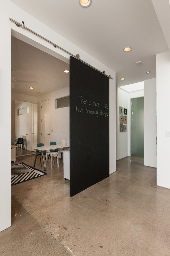
<svg viewBox="0 0 170 256">
<path fill-rule="evenodd" d="M 46 174 L 24 163 L 11 165 L 11 186 Z"/>
</svg>

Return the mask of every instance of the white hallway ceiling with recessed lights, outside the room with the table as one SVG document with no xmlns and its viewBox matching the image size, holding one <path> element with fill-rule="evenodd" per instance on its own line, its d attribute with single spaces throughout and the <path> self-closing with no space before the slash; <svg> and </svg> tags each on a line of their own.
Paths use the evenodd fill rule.
<svg viewBox="0 0 170 256">
<path fill-rule="evenodd" d="M 168 0 L 162 1 L 167 4 Z M 169 27 L 163 29 L 163 34 L 154 9 L 155 3 L 154 6 L 152 4 L 157 2 L 159 17 L 163 19 L 164 9 L 159 8 L 162 1 L 92 0 L 89 7 L 83 8 L 78 0 L 11 0 L 115 71 L 116 86 L 156 77 L 156 54 L 169 50 L 164 37 Z M 25 25 L 29 28 L 29 24 Z M 57 41 L 54 43 L 57 44 Z M 127 46 L 132 50 L 125 53 L 123 48 Z M 138 61 L 143 64 L 137 66 L 135 63 Z M 146 71 L 151 73 L 146 74 Z M 120 80 L 122 77 L 124 81 Z M 36 80 L 31 76 L 28 78 L 23 80 Z"/>
</svg>

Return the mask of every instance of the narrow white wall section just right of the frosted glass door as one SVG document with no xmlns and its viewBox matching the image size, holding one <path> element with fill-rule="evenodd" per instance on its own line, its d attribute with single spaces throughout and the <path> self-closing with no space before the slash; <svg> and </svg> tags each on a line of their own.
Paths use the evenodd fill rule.
<svg viewBox="0 0 170 256">
<path fill-rule="evenodd" d="M 156 78 L 144 81 L 144 165 L 156 168 Z"/>
</svg>

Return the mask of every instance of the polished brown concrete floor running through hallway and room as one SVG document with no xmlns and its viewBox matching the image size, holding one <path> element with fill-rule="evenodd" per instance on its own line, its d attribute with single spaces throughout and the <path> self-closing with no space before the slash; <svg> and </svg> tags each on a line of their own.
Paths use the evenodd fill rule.
<svg viewBox="0 0 170 256">
<path fill-rule="evenodd" d="M 43 170 L 39 159 L 36 168 Z M 12 227 L 0 233 L 0 255 L 170 255 L 170 190 L 156 186 L 156 169 L 141 158 L 116 161 L 116 172 L 72 198 L 62 161 L 52 170 L 49 161 L 47 175 L 11 193 Z"/>
</svg>

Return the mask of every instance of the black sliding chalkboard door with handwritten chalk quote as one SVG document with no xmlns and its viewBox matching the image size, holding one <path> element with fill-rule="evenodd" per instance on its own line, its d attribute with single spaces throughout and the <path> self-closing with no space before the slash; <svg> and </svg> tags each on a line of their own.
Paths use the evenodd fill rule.
<svg viewBox="0 0 170 256">
<path fill-rule="evenodd" d="M 109 78 L 70 57 L 70 196 L 109 176 Z"/>
</svg>

